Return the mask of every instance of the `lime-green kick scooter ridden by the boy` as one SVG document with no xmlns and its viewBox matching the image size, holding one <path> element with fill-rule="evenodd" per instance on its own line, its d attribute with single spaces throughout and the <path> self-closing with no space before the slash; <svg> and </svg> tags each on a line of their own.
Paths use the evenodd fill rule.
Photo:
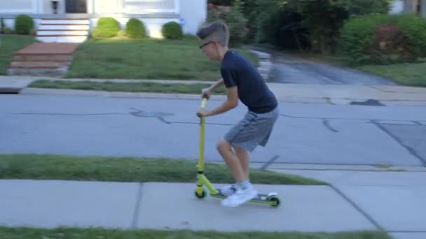
<svg viewBox="0 0 426 239">
<path fill-rule="evenodd" d="M 205 108 L 207 105 L 207 98 L 202 99 L 201 108 Z M 224 194 L 221 194 L 220 189 L 217 189 L 213 184 L 208 180 L 204 174 L 204 138 L 205 138 L 205 117 L 200 117 L 200 155 L 198 157 L 197 164 L 197 186 L 195 189 L 195 196 L 197 198 L 205 198 L 207 196 L 207 187 L 208 194 L 214 198 L 226 198 Z M 257 194 L 255 198 L 249 201 L 250 203 L 261 203 L 268 204 L 272 207 L 277 207 L 280 205 L 280 198 L 277 197 L 277 193 L 271 192 L 269 194 Z"/>
</svg>

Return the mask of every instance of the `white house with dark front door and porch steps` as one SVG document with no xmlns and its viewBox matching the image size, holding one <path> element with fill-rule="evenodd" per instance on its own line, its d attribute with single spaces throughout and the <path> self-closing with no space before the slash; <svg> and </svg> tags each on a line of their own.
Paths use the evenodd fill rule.
<svg viewBox="0 0 426 239">
<path fill-rule="evenodd" d="M 149 36 L 161 38 L 161 27 L 170 21 L 179 22 L 184 33 L 195 34 L 207 17 L 207 0 L 0 0 L 6 27 L 13 29 L 22 13 L 34 19 L 39 41 L 84 41 L 99 17 L 114 17 L 122 28 L 130 18 L 138 18 Z"/>
</svg>

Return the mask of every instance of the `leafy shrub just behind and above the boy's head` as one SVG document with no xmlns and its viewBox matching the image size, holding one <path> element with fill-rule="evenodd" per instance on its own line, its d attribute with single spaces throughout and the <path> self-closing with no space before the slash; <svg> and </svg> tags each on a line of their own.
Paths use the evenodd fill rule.
<svg viewBox="0 0 426 239">
<path fill-rule="evenodd" d="M 245 41 L 248 29 L 246 28 L 247 18 L 242 13 L 242 3 L 235 0 L 233 6 L 215 6 L 209 4 L 207 11 L 207 22 L 226 22 L 229 28 L 229 44 L 238 45 Z"/>
</svg>

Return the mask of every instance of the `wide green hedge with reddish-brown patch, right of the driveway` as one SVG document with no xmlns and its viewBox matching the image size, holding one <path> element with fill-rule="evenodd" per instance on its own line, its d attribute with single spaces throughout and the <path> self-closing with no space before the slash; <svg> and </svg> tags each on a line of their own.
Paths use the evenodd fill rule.
<svg viewBox="0 0 426 239">
<path fill-rule="evenodd" d="M 339 48 L 355 64 L 392 64 L 426 57 L 426 19 L 414 15 L 353 17 Z"/>
</svg>

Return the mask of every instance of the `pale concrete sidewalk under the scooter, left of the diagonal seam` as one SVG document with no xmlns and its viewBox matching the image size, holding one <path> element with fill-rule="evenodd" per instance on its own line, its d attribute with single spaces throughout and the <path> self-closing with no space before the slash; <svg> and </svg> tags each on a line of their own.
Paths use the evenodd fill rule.
<svg viewBox="0 0 426 239">
<path fill-rule="evenodd" d="M 276 191 L 282 205 L 272 208 L 247 203 L 224 208 L 218 198 L 195 198 L 195 184 L 0 180 L 4 192 L 0 224 L 218 231 L 377 229 L 331 187 L 256 187 Z M 267 218 L 268 223 L 259 224 L 259 218 Z"/>
</svg>

